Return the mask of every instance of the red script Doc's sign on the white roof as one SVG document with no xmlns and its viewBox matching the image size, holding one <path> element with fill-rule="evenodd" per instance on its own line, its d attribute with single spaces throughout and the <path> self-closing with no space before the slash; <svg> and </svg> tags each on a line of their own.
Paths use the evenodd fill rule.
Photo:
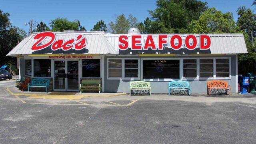
<svg viewBox="0 0 256 144">
<path fill-rule="evenodd" d="M 40 43 L 42 43 L 47 37 L 50 38 L 50 41 L 46 44 L 40 45 Z M 37 42 L 34 43 L 31 50 L 35 51 L 42 50 L 50 45 L 52 45 L 52 50 L 62 49 L 65 51 L 70 50 L 71 48 L 74 48 L 75 50 L 81 50 L 87 46 L 86 38 L 83 38 L 82 34 L 65 42 L 63 39 L 56 40 L 56 34 L 53 32 L 41 32 L 34 36 L 34 40 L 37 40 Z"/>
</svg>

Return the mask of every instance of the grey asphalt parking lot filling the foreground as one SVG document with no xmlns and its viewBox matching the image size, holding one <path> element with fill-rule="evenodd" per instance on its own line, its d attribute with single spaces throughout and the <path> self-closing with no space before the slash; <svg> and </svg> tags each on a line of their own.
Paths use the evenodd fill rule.
<svg viewBox="0 0 256 144">
<path fill-rule="evenodd" d="M 91 105 L 36 104 L 47 100 L 23 103 L 6 91 L 12 85 L 0 84 L 1 144 L 256 143 L 255 97 L 117 96 L 81 100 Z"/>
</svg>

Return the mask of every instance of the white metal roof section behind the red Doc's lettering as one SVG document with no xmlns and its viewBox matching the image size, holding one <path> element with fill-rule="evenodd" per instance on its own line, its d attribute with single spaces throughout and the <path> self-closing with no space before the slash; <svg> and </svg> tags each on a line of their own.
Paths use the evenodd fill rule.
<svg viewBox="0 0 256 144">
<path fill-rule="evenodd" d="M 110 43 L 104 37 L 104 32 L 54 32 L 56 34 L 56 40 L 64 39 L 69 40 L 71 38 L 76 38 L 79 34 L 82 34 L 87 41 L 87 47 L 84 50 L 56 50 L 52 51 L 50 46 L 43 50 L 33 51 L 31 50 L 32 45 L 37 41 L 34 40 L 34 36 L 37 33 L 32 33 L 24 40 L 22 40 L 17 46 L 15 46 L 7 56 L 16 55 L 27 55 L 27 54 L 118 54 Z M 50 38 L 46 38 L 42 44 L 49 42 Z"/>
</svg>

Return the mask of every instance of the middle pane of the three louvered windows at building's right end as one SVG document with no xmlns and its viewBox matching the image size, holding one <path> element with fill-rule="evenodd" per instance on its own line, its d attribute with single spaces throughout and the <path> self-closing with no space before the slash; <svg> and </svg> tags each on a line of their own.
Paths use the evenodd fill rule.
<svg viewBox="0 0 256 144">
<path fill-rule="evenodd" d="M 200 78 L 213 78 L 213 59 L 200 59 Z"/>
</svg>

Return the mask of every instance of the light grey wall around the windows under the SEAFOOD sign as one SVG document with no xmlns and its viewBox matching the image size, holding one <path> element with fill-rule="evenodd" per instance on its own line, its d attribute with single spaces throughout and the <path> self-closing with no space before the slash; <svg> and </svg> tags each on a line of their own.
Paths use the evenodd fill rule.
<svg viewBox="0 0 256 144">
<path fill-rule="evenodd" d="M 172 57 L 146 57 L 143 58 L 231 58 L 231 80 L 224 80 L 228 82 L 231 86 L 231 92 L 236 92 L 236 55 L 231 56 L 172 56 Z M 105 57 L 105 65 L 104 65 L 104 92 L 126 92 L 129 93 L 129 82 L 134 80 L 108 80 L 107 79 L 107 58 L 113 57 Z M 115 58 L 141 58 L 138 56 L 129 56 L 129 57 L 115 57 Z M 140 61 L 139 61 L 140 62 Z M 142 73 L 140 73 L 140 80 L 142 80 Z M 209 80 L 185 80 L 188 81 L 191 86 L 192 93 L 206 93 L 206 82 Z M 168 93 L 168 81 L 150 81 L 152 93 Z"/>
</svg>

